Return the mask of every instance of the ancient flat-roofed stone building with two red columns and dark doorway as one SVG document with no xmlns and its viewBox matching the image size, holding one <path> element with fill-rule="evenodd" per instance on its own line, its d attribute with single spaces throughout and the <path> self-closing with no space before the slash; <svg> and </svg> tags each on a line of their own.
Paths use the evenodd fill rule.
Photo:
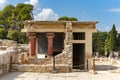
<svg viewBox="0 0 120 80">
<path fill-rule="evenodd" d="M 92 68 L 92 33 L 97 22 L 25 21 L 22 32 L 29 39 L 29 58 L 55 56 L 56 64 L 67 64 L 71 70 Z"/>
</svg>

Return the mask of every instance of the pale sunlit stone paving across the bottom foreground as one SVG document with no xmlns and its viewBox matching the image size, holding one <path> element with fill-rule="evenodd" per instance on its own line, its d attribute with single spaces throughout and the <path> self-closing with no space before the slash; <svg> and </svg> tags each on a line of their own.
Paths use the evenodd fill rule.
<svg viewBox="0 0 120 80">
<path fill-rule="evenodd" d="M 73 73 L 34 73 L 34 72 L 10 72 L 0 77 L 0 80 L 119 80 L 120 74 L 108 71 L 97 71 L 97 74 L 89 72 Z"/>
</svg>

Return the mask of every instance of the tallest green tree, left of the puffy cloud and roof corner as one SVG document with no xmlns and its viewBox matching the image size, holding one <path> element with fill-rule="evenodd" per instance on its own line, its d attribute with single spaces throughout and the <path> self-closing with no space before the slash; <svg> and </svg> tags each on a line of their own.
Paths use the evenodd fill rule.
<svg viewBox="0 0 120 80">
<path fill-rule="evenodd" d="M 11 16 L 11 28 L 21 30 L 23 28 L 23 21 L 33 19 L 32 10 L 33 6 L 30 4 L 17 4 Z"/>
</svg>

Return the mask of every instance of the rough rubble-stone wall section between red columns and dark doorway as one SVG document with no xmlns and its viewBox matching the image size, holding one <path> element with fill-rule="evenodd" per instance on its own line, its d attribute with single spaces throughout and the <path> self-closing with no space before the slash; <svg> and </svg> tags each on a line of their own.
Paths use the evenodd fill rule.
<svg viewBox="0 0 120 80">
<path fill-rule="evenodd" d="M 64 49 L 62 53 L 55 56 L 56 65 L 68 65 L 70 69 L 72 69 L 72 34 L 72 23 L 67 22 L 65 29 Z M 53 64 L 53 59 L 51 59 L 48 64 Z"/>
</svg>

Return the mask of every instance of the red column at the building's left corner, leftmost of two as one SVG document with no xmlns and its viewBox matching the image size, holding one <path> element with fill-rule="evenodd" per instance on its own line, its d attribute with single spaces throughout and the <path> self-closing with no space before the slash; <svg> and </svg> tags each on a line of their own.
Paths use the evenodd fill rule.
<svg viewBox="0 0 120 80">
<path fill-rule="evenodd" d="M 36 53 L 36 35 L 35 34 L 29 34 L 29 56 L 35 56 Z"/>
</svg>

